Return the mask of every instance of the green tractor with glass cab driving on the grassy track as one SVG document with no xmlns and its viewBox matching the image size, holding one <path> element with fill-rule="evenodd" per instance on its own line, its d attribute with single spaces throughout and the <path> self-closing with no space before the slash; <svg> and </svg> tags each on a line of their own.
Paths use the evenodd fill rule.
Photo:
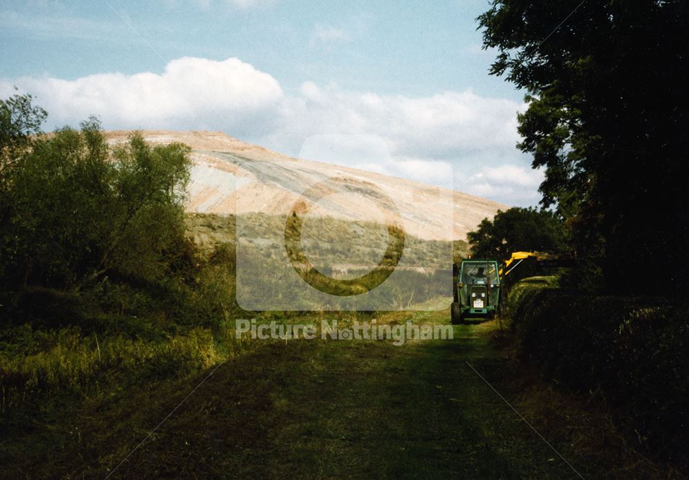
<svg viewBox="0 0 689 480">
<path fill-rule="evenodd" d="M 467 318 L 493 318 L 500 308 L 500 275 L 497 260 L 463 260 L 453 265 L 456 275 L 452 323 Z"/>
</svg>

